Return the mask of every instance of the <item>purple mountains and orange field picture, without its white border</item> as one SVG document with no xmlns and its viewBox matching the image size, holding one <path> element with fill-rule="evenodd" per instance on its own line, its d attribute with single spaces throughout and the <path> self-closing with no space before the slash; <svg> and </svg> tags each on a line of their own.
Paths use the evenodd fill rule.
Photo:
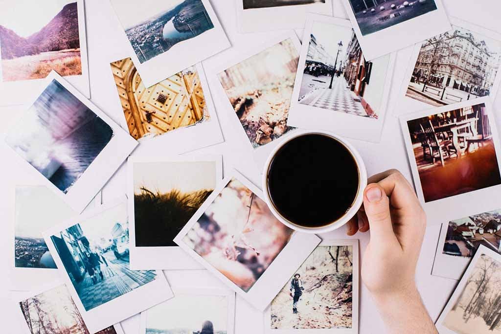
<svg viewBox="0 0 501 334">
<path fill-rule="evenodd" d="M 69 1 L 55 0 L 64 3 L 59 13 L 27 37 L 17 31 L 20 27 L 0 25 L 2 81 L 43 79 L 52 70 L 61 76 L 82 74 L 78 8 Z M 22 14 L 24 21 L 38 11 L 39 7 L 23 6 L 13 13 Z"/>
</svg>

